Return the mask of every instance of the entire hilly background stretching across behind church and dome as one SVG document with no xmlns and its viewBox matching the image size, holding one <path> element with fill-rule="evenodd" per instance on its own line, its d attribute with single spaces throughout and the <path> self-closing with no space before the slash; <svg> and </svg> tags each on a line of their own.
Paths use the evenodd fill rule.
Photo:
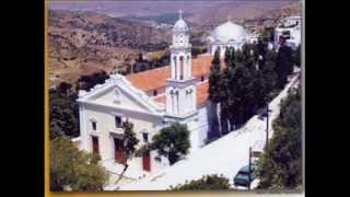
<svg viewBox="0 0 350 197">
<path fill-rule="evenodd" d="M 164 54 L 172 38 L 172 26 L 160 27 L 158 23 L 172 24 L 178 9 L 187 14 L 194 48 L 203 48 L 209 33 L 228 16 L 249 30 L 261 31 L 275 26 L 281 16 L 301 12 L 301 1 L 295 0 L 168 4 L 167 1 L 52 3 L 48 32 L 50 86 L 61 81 L 74 82 L 82 74 L 97 70 L 110 73 L 130 69 L 140 53 L 147 59 L 150 53 Z"/>
</svg>

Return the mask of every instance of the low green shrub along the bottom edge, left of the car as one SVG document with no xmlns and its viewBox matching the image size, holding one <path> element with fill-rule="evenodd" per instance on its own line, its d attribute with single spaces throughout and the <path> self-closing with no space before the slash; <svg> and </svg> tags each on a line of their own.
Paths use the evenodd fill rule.
<svg viewBox="0 0 350 197">
<path fill-rule="evenodd" d="M 230 189 L 229 179 L 217 174 L 202 176 L 200 179 L 186 182 L 183 185 L 170 188 L 171 190 L 222 190 Z"/>
</svg>

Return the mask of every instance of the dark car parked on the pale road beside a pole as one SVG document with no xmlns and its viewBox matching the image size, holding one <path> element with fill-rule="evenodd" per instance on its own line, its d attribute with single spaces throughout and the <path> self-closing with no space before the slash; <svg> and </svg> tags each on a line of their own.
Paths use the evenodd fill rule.
<svg viewBox="0 0 350 197">
<path fill-rule="evenodd" d="M 257 166 L 252 164 L 250 166 L 250 183 L 257 177 Z M 248 187 L 249 183 L 249 165 L 243 166 L 233 178 L 235 186 Z"/>
</svg>

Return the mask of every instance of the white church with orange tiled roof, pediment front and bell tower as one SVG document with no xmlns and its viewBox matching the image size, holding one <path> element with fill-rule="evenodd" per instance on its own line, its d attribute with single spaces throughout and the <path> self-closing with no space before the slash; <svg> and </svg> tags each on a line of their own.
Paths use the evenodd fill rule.
<svg viewBox="0 0 350 197">
<path fill-rule="evenodd" d="M 173 28 L 171 65 L 129 74 L 114 74 L 89 92 L 80 91 L 80 148 L 96 152 L 107 170 L 122 170 L 124 130 L 128 119 L 142 146 L 161 128 L 178 121 L 190 130 L 190 151 L 203 146 L 208 132 L 208 77 L 212 56 L 191 59 L 189 27 L 179 15 Z M 126 176 L 138 178 L 167 166 L 167 159 L 151 151 L 128 161 Z"/>
</svg>

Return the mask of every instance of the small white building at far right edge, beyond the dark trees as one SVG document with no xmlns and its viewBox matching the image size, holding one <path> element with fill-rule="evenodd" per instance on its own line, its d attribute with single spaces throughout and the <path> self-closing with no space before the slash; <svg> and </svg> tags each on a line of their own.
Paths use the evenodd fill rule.
<svg viewBox="0 0 350 197">
<path fill-rule="evenodd" d="M 278 49 L 281 42 L 295 49 L 301 44 L 301 16 L 289 16 L 275 28 L 273 45 Z"/>
</svg>

